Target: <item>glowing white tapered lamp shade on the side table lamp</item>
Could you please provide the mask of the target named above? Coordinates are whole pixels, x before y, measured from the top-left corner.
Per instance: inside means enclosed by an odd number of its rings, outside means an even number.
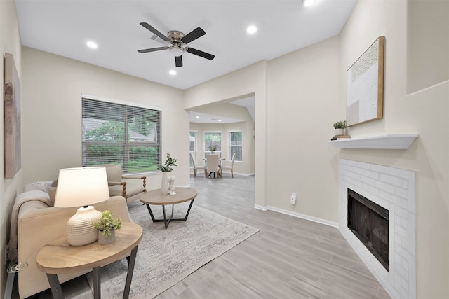
[[[105,167],[60,169],[55,207],[83,207],[108,198]]]

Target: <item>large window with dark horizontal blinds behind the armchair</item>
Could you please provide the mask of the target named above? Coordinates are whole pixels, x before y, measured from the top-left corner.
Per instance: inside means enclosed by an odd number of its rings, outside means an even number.
[[[161,165],[161,111],[82,99],[83,166],[118,163],[123,173]]]

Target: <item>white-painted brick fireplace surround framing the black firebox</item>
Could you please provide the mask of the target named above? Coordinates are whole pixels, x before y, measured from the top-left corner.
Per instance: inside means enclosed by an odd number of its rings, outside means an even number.
[[[389,270],[347,228],[347,189],[389,210]],[[415,172],[340,159],[339,230],[392,298],[416,298]]]

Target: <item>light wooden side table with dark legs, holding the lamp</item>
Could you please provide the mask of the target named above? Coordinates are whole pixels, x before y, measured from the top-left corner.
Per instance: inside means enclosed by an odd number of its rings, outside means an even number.
[[[142,228],[132,222],[123,222],[116,230],[116,240],[110,244],[100,245],[93,242],[84,246],[70,246],[67,237],[60,237],[47,244],[36,256],[36,267],[47,274],[53,298],[64,298],[58,274],[93,271],[93,297],[100,299],[100,267],[119,260],[131,251],[128,259],[123,298],[128,298],[135,265],[138,244],[142,239]]]

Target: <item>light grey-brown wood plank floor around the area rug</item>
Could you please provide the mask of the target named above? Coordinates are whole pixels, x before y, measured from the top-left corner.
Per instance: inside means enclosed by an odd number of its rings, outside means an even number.
[[[254,209],[254,180],[227,173],[218,181],[191,177],[194,205],[260,231],[157,299],[390,298],[337,228]],[[63,284],[66,298],[92,298],[87,288],[85,277]]]

